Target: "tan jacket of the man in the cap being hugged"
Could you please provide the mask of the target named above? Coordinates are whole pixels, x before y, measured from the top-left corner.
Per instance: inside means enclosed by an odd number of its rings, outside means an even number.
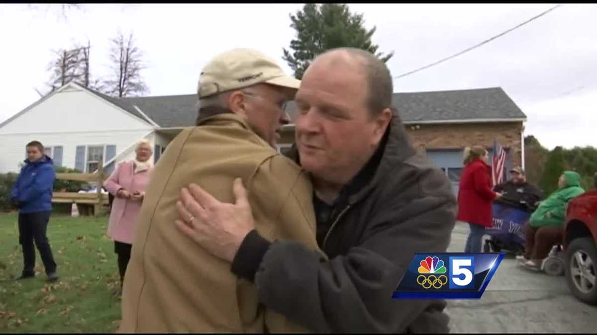
[[[119,332],[306,331],[260,305],[253,283],[174,225],[182,187],[195,182],[232,203],[236,177],[247,188],[261,236],[292,238],[318,250],[305,172],[235,114],[210,117],[181,132],[155,167],[124,280]]]

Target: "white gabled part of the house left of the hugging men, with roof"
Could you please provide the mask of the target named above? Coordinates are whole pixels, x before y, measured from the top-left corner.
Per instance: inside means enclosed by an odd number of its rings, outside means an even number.
[[[142,138],[152,143],[157,161],[184,127],[194,125],[196,100],[195,94],[112,98],[68,83],[0,124],[0,173],[18,172],[24,146],[33,140],[44,144],[55,165],[84,172],[100,163],[111,172],[134,157]]]

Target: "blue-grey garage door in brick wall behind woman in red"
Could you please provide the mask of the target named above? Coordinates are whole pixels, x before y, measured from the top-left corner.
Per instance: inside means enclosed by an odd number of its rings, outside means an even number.
[[[491,157],[493,157],[493,150],[489,151],[489,157],[491,162]],[[450,179],[452,183],[452,189],[454,190],[454,195],[458,195],[458,182],[460,182],[460,174],[463,170],[463,157],[462,157],[463,150],[427,150],[427,156],[429,159],[435,163],[438,168],[442,169],[444,173]],[[504,173],[512,168],[512,160],[510,159],[510,155],[508,154],[508,150],[506,149],[506,164],[504,166]],[[504,174],[507,179],[507,175]]]

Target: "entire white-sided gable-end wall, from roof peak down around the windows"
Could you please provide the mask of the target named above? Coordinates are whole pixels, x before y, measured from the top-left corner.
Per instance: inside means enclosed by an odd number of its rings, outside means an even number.
[[[67,85],[0,127],[0,173],[17,172],[25,144],[62,145],[62,165],[75,168],[77,145],[116,145],[116,154],[153,131],[153,126],[99,96]]]

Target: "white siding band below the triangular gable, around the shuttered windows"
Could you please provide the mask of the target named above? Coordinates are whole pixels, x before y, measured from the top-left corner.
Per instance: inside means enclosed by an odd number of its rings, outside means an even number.
[[[18,119],[17,119],[18,120]],[[15,121],[17,121],[15,120]],[[103,131],[103,132],[30,132],[29,134],[0,134],[2,155],[0,155],[0,173],[18,172],[19,163],[25,159],[25,144],[34,139],[44,145],[63,146],[62,165],[75,168],[77,145],[116,145],[116,154],[122,153],[134,145],[150,130]],[[133,150],[134,157],[134,150]],[[131,157],[132,158],[132,157]],[[120,159],[118,160],[120,161]]]

